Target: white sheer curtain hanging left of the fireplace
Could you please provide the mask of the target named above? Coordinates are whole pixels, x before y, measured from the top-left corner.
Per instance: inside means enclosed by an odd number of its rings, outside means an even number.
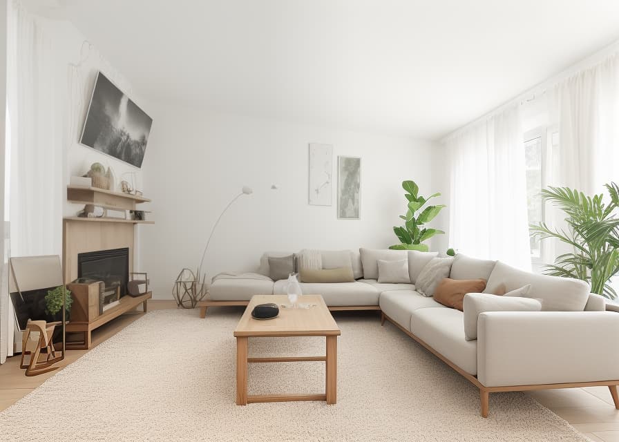
[[[12,256],[59,255],[62,251],[66,66],[63,71],[54,59],[54,41],[45,20],[30,14],[21,3],[10,2],[7,181]],[[12,334],[12,305],[7,310],[10,313],[7,316],[3,310],[0,325],[7,348],[3,347],[0,360],[12,354],[13,339],[18,337]]]

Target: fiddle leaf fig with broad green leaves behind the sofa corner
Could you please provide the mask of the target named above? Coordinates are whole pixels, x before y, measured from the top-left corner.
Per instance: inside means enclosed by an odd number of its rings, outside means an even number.
[[[445,205],[426,206],[426,203],[431,198],[441,194],[434,193],[428,197],[421,196],[419,195],[419,186],[412,180],[403,181],[402,189],[406,191],[404,197],[408,200],[408,210],[406,215],[400,215],[400,218],[404,220],[404,225],[393,228],[395,236],[400,240],[400,244],[394,244],[389,248],[394,250],[428,251],[428,244],[423,244],[423,241],[445,232],[439,229],[426,228],[424,224],[436,218]]]

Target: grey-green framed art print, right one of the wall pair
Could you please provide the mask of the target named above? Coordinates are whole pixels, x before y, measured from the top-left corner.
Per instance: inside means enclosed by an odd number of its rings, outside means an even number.
[[[361,158],[337,157],[337,218],[359,220],[361,215]]]

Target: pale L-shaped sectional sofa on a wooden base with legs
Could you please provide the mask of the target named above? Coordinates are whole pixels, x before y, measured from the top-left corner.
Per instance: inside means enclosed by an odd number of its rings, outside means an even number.
[[[604,298],[590,294],[587,283],[458,255],[451,265],[450,278],[484,279],[484,292],[488,294],[499,285],[506,291],[531,285],[527,298],[539,300],[542,310],[485,311],[474,318],[477,339],[466,340],[462,311],[415,291],[419,268],[415,269],[413,261],[418,255],[391,250],[360,252],[350,251],[358,278],[355,282],[302,282],[303,293],[321,294],[332,310],[380,310],[381,323],[389,320],[479,388],[482,416],[488,415],[491,392],[588,385],[607,385],[619,409],[619,352],[607,345],[619,340],[619,314],[607,311]],[[285,294],[285,280],[272,281],[264,276],[269,274],[265,267],[268,256],[287,254],[265,253],[257,273],[213,282],[209,300],[201,304],[201,316],[207,307],[247,305],[256,294]],[[377,281],[376,260],[407,256],[412,283]],[[263,276],[254,279],[251,275]]]

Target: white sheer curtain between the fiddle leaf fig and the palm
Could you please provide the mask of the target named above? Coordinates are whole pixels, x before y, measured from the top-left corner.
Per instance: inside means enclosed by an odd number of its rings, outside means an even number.
[[[446,140],[450,246],[531,269],[520,105]]]

